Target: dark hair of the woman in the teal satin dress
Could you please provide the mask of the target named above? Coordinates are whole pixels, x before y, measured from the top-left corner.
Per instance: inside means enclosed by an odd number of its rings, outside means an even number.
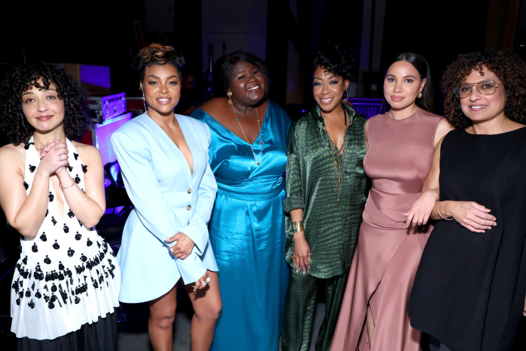
[[[248,62],[258,67],[259,72],[265,76],[265,94],[261,99],[264,102],[267,99],[268,92],[270,89],[270,79],[268,68],[259,57],[246,53],[244,51],[236,51],[231,54],[219,57],[214,64],[212,70],[213,83],[214,83],[214,97],[225,97],[227,96],[228,89],[230,88],[230,77],[232,75],[232,68],[238,62]]]

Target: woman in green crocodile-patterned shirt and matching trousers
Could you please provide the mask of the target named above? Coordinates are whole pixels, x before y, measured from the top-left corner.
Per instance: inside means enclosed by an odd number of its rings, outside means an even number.
[[[366,117],[343,97],[353,60],[341,46],[326,45],[312,64],[316,105],[292,124],[287,142],[285,259],[292,272],[283,350],[309,348],[318,278],[325,279],[327,299],[316,349],[329,348],[366,200]]]

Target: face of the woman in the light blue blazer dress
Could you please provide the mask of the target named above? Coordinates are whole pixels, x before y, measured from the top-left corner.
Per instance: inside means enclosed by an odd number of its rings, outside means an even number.
[[[151,113],[162,116],[174,114],[181,93],[177,68],[171,64],[148,66],[144,70],[141,86],[150,117]]]

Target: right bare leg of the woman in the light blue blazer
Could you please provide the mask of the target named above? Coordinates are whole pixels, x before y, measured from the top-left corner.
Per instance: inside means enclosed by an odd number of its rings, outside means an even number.
[[[194,306],[194,317],[192,318],[190,328],[190,339],[192,342],[192,351],[208,351],[216,320],[221,312],[221,296],[219,294],[219,282],[217,272],[207,271],[210,282],[206,288],[194,292],[191,285],[185,286],[188,296]]]

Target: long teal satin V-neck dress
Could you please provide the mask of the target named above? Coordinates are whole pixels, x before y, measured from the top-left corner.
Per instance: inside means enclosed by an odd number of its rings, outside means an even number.
[[[218,186],[208,227],[223,307],[211,350],[277,350],[289,276],[282,200],[290,119],[269,101],[258,166],[250,145],[214,117],[201,109],[191,116],[210,127]],[[252,147],[259,161],[259,137]]]

